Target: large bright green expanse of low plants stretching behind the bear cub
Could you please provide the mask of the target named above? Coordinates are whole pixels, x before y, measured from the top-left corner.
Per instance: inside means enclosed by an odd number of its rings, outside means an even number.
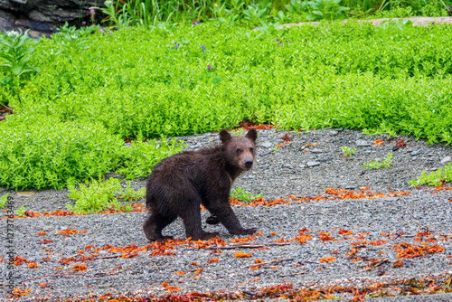
[[[131,138],[185,136],[250,119],[452,142],[447,25],[135,28],[82,37],[83,52],[61,45],[61,37],[39,43],[42,72],[24,83],[21,103],[13,99],[21,113],[100,123]]]

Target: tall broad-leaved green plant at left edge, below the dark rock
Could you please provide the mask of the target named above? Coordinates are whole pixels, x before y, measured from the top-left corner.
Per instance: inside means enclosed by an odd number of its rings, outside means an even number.
[[[35,43],[28,37],[28,31],[0,33],[0,58],[3,59],[3,66],[11,73],[4,79],[4,82],[12,80],[13,77],[20,77],[25,72],[40,71],[38,67],[31,66],[30,60],[35,48]]]

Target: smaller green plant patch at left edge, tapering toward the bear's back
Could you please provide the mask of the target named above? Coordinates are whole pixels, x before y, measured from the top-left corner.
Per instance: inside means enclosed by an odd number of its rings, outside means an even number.
[[[97,124],[54,116],[11,116],[0,124],[0,185],[58,188],[118,169],[127,178],[149,175],[180,144],[124,140]]]

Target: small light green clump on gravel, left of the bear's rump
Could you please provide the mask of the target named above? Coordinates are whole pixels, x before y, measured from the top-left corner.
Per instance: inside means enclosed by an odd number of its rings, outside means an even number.
[[[91,183],[80,184],[76,189],[74,184],[70,184],[68,197],[75,200],[75,204],[66,204],[66,207],[73,212],[101,212],[108,208],[120,209],[121,204],[116,198],[121,185],[118,179],[110,178],[107,181],[93,180]]]

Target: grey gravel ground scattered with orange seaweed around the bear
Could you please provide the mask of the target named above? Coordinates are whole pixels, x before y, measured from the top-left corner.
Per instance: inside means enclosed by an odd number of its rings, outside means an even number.
[[[58,260],[69,257],[72,257],[69,258],[72,260],[78,259],[78,250],[85,250],[88,245],[92,245],[93,249],[105,245],[126,247],[135,244],[137,247],[145,247],[149,242],[146,241],[141,226],[146,219],[146,212],[10,220],[10,223],[14,223],[14,253],[26,260],[35,261],[40,266],[35,269],[29,269],[28,264],[14,267],[15,287],[32,289],[31,293],[20,300],[86,298],[89,294],[94,295],[92,298],[97,298],[108,292],[115,295],[118,295],[118,292],[128,292],[128,297],[139,293],[160,297],[171,289],[178,290],[175,294],[193,291],[245,291],[253,297],[253,293],[260,288],[285,283],[293,284],[293,288],[327,288],[333,285],[363,288],[364,285],[376,282],[410,278],[438,278],[438,285],[452,277],[452,259],[447,257],[452,255],[452,241],[445,241],[447,236],[452,239],[452,191],[432,193],[432,190],[414,189],[408,184],[409,180],[415,179],[422,171],[433,171],[447,165],[452,156],[450,146],[428,146],[425,141],[415,141],[413,137],[390,140],[385,135],[366,136],[355,130],[324,129],[308,133],[290,132],[288,137],[293,136],[291,144],[276,147],[285,142],[281,137],[286,134],[287,131],[275,129],[259,130],[256,165],[250,173],[239,177],[235,187],[250,193],[262,193],[266,199],[287,199],[289,194],[322,194],[331,197],[333,195],[325,193],[325,189],[330,187],[355,190],[368,186],[373,192],[381,193],[389,193],[391,187],[391,192],[405,190],[410,194],[375,199],[233,207],[242,224],[259,228],[260,235],[256,236],[255,241],[250,241],[251,243],[274,244],[274,241],[283,239],[288,241],[287,245],[268,245],[259,250],[234,248],[212,254],[212,250],[196,250],[185,244],[169,250],[175,251],[174,256],[152,256],[155,249],[149,249],[139,250],[137,257],[128,259],[111,258],[121,256],[124,251],[99,250],[98,255],[95,255],[97,260],[75,261],[69,264],[61,264]],[[219,141],[217,134],[179,138],[186,142],[188,149],[210,146]],[[404,139],[407,146],[393,151],[399,138]],[[377,139],[384,141],[381,146],[372,144]],[[357,152],[354,156],[344,157],[342,146],[356,148]],[[363,163],[377,158],[383,160],[389,153],[393,154],[389,169],[363,168]],[[126,184],[127,182],[123,182],[123,185]],[[145,180],[134,180],[131,185],[140,189],[145,185]],[[33,212],[64,209],[66,203],[71,203],[67,198],[67,190],[6,192],[14,198],[14,208],[24,205],[25,210]],[[0,195],[4,193],[5,189],[0,189]],[[139,202],[144,203],[144,200]],[[202,219],[207,215],[207,212],[202,212]],[[6,220],[0,221],[2,234],[6,231],[6,224]],[[56,232],[68,227],[86,232],[68,236]],[[289,241],[296,238],[298,231],[303,228],[308,230],[305,232],[312,240],[303,244]],[[204,229],[219,231],[221,238],[228,242],[236,238],[228,234],[221,225],[205,224]],[[339,234],[340,229],[352,231],[353,234]],[[415,241],[415,236],[419,231],[426,230],[432,234],[430,237],[420,238],[421,241],[429,239],[428,246],[438,244],[444,250],[428,253],[423,257],[403,259],[400,268],[391,268],[398,253],[394,250],[394,245],[400,244],[401,241],[419,245],[420,242]],[[38,236],[38,231],[45,231],[46,234]],[[334,240],[321,240],[320,231],[331,232],[329,236],[334,237]],[[363,234],[359,236],[359,233]],[[164,234],[184,239],[182,222],[177,220],[165,229]],[[345,240],[344,237],[354,240]],[[376,246],[363,243],[378,240],[381,240],[381,243],[386,242]],[[0,243],[0,256],[5,256],[6,243],[5,240]],[[351,255],[353,248],[356,253]],[[83,255],[94,254],[86,251]],[[235,258],[234,253],[237,251],[250,252],[251,257]],[[334,257],[336,260],[321,263],[324,257]],[[212,258],[220,261],[209,263],[208,260]],[[49,261],[44,261],[47,259]],[[282,259],[284,261],[268,263],[259,269],[247,268],[255,260],[271,262]],[[10,271],[5,262],[6,256],[0,263],[0,282],[3,290],[0,292],[1,297],[7,294],[6,274]],[[83,263],[87,265],[87,270],[73,274],[72,267]],[[380,264],[376,265],[378,263]],[[199,272],[199,269],[202,269],[202,272]],[[184,274],[176,274],[176,271],[182,271]],[[61,276],[64,274],[72,275]],[[43,277],[45,275],[52,276]],[[165,281],[169,288],[162,287]],[[394,290],[392,294],[400,293],[400,288]],[[353,298],[350,294],[338,293],[334,296]],[[452,300],[452,293],[403,299],[375,299],[380,300],[449,301]]]

